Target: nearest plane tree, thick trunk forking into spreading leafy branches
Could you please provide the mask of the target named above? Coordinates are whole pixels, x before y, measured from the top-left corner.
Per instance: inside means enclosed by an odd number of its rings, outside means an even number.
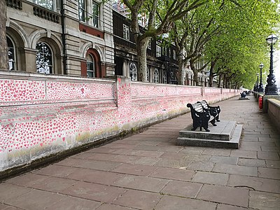
[[[174,22],[186,13],[207,3],[207,0],[123,0],[130,9],[131,29],[137,45],[139,80],[147,81],[146,50],[151,38],[168,33]],[[148,19],[146,30],[141,33],[139,14]]]

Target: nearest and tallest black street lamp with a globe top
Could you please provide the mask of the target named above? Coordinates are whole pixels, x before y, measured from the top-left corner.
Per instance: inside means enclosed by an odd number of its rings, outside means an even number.
[[[266,95],[277,95],[277,85],[275,85],[276,79],[273,73],[273,45],[278,40],[277,36],[274,34],[269,35],[266,39],[267,43],[270,45],[270,66],[269,75],[267,76],[267,85],[265,86]]]

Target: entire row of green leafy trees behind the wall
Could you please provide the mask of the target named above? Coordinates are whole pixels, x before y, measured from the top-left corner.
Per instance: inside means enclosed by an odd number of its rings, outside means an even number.
[[[169,34],[176,45],[179,83],[183,83],[184,64],[204,59],[211,78],[223,78],[223,86],[251,88],[258,65],[269,66],[269,48],[265,38],[277,34],[279,0],[123,0],[130,8],[132,33],[137,41],[139,80],[146,81],[146,48],[152,37]],[[148,18],[146,31],[139,31],[139,14]],[[186,52],[186,57],[182,57]],[[206,65],[205,65],[206,66]],[[205,67],[203,66],[203,67]],[[267,71],[267,69],[264,69]],[[265,74],[265,73],[264,73]]]

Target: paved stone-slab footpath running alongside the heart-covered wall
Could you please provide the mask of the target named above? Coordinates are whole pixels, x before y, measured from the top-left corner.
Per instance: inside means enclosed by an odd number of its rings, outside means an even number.
[[[1,182],[0,209],[279,210],[279,132],[253,97],[218,105],[239,150],[176,146],[187,113]]]

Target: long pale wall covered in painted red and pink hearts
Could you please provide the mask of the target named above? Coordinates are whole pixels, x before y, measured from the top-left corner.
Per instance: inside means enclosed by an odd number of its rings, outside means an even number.
[[[235,90],[0,72],[0,172],[218,102]]]

